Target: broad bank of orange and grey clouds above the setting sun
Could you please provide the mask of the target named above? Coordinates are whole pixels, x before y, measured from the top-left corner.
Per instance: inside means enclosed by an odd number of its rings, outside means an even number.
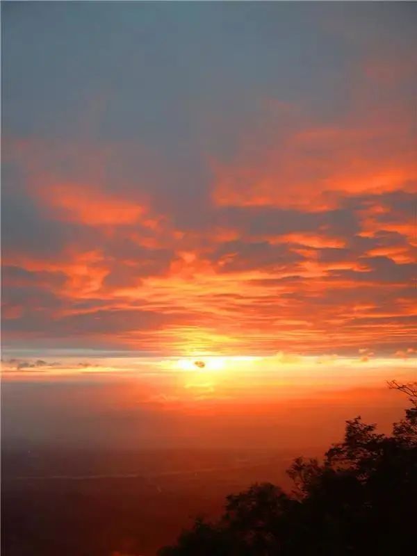
[[[81,330],[165,354],[406,350],[417,165],[403,118],[360,115],[301,125],[290,111],[286,131],[273,121],[215,161],[212,190],[191,200],[166,186],[163,160],[149,191],[132,169],[114,183],[125,145],[54,145],[49,167],[47,145],[19,143],[17,193],[42,241],[4,256],[6,334],[70,343]]]

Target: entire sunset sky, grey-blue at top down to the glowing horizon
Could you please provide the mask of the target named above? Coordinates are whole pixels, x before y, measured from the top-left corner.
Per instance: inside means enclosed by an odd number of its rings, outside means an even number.
[[[183,408],[413,376],[416,3],[1,12],[6,374]]]

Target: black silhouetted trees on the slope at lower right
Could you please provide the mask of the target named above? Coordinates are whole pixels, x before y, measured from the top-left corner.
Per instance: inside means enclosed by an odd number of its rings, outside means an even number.
[[[227,496],[215,522],[197,518],[159,556],[409,555],[417,549],[417,384],[391,436],[358,417],[322,462],[296,459],[294,490],[254,484]]]

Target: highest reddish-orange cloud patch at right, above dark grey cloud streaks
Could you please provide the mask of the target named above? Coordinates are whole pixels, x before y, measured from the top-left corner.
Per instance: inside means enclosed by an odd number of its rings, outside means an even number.
[[[234,158],[213,161],[213,201],[318,211],[338,206],[341,195],[413,190],[417,163],[409,115],[391,119],[378,107],[358,120],[359,113],[354,121],[327,126],[295,120],[286,131],[278,122],[272,139],[269,130],[265,137],[248,133]]]

